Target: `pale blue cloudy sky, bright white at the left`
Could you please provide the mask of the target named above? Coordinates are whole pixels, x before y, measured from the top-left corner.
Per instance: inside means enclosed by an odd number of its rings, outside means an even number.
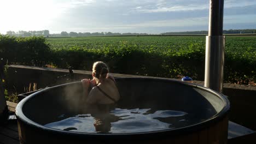
[[[1,0],[7,31],[207,31],[210,0]],[[225,0],[223,29],[256,29],[256,0]]]

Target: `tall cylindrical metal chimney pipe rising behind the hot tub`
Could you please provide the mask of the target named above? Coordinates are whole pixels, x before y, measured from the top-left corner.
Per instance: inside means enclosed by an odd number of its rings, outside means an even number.
[[[205,87],[222,92],[224,47],[224,0],[210,0],[209,32],[206,36]]]

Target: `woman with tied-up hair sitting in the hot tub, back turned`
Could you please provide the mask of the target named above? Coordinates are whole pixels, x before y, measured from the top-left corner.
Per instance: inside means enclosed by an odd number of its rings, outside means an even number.
[[[95,62],[92,67],[92,77],[92,80],[82,80],[86,107],[90,113],[109,112],[120,99],[120,95],[114,77],[109,75],[107,64]]]

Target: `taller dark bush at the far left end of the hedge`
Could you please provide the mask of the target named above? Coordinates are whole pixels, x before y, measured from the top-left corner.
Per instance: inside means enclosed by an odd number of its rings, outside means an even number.
[[[0,58],[8,64],[44,66],[50,62],[50,46],[43,37],[16,38],[0,35]]]

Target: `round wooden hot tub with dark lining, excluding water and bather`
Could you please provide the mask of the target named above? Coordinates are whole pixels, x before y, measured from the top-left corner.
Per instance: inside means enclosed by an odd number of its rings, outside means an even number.
[[[45,127],[63,113],[83,113],[81,82],[43,89],[16,107],[21,143],[226,143],[228,99],[211,89],[175,80],[117,78],[123,109],[176,110],[199,119],[183,127],[138,133],[82,133]],[[192,120],[191,120],[192,121]],[[194,120],[193,120],[194,121]]]

